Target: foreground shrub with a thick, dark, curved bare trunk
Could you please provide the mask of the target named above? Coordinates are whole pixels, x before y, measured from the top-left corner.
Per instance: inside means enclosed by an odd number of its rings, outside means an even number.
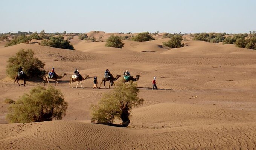
[[[142,105],[144,101],[138,97],[138,93],[139,89],[135,82],[129,84],[119,82],[111,93],[103,94],[98,105],[92,105],[91,122],[113,123],[115,118],[119,118],[123,121],[122,127],[128,126],[129,110]]]

